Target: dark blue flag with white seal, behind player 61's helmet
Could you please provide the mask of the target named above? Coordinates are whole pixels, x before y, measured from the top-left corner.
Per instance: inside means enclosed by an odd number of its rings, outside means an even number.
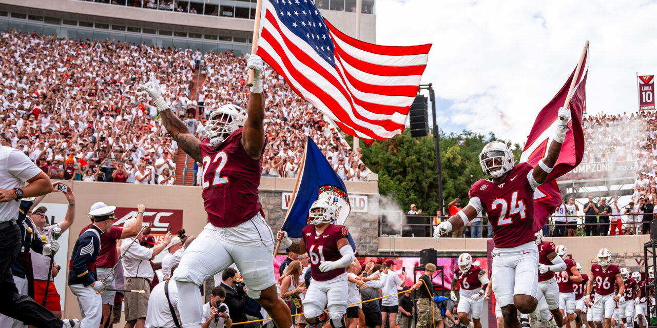
[[[320,197],[329,199],[336,205],[338,208],[336,224],[344,224],[351,211],[347,188],[315,142],[307,137],[304,160],[298,171],[292,200],[282,228],[288,236],[291,238],[302,236],[302,229],[308,224],[308,211],[313,202]]]

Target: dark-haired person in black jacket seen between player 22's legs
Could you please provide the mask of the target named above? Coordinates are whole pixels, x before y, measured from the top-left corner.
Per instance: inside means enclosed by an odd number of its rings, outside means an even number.
[[[224,302],[230,310],[230,317],[233,322],[244,322],[257,320],[258,318],[249,316],[244,313],[246,304],[250,298],[246,295],[246,286],[238,281],[237,271],[233,268],[227,268],[221,273],[221,287],[226,291]],[[246,323],[245,328],[256,328],[260,323]]]

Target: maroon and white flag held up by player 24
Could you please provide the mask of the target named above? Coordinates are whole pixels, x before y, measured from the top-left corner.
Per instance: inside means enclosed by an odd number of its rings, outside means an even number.
[[[586,111],[585,86],[589,71],[588,48],[584,54],[581,70],[579,70],[577,77],[574,77],[575,71],[570,74],[568,81],[556,94],[555,98],[550,100],[543,110],[538,113],[532,132],[530,132],[527,143],[522,150],[522,156],[520,156],[520,162],[526,161],[535,166],[538,161],[547,155],[547,150],[555,135],[557,113],[559,108],[566,102],[570,85],[573,79],[576,78],[576,84],[570,98],[571,121],[568,123],[572,130],[566,134],[566,140],[564,140],[561,147],[561,153],[555,168],[547,176],[545,183],[536,188],[534,192],[534,231],[541,230],[545,226],[548,216],[555,212],[556,207],[561,205],[561,192],[555,179],[578,166],[584,153],[584,133],[581,129],[581,116]]]

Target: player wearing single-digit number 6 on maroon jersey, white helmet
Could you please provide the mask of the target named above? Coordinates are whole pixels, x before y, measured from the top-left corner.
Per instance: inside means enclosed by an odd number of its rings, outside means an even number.
[[[457,260],[459,268],[454,270],[454,277],[452,279],[451,299],[456,302],[457,283],[459,284],[459,306],[457,307],[457,314],[459,321],[462,325],[470,326],[470,319],[474,323],[474,328],[482,328],[480,318],[482,318],[482,308],[484,306],[484,298],[482,296],[486,293],[488,285],[488,276],[486,271],[480,266],[472,265],[472,256],[468,253],[459,255]]]

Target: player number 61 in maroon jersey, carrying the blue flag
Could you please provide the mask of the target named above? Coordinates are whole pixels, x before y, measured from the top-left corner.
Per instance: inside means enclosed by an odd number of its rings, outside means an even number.
[[[311,325],[323,323],[327,316],[333,328],[344,327],[347,312],[347,272],[353,256],[346,226],[332,224],[337,209],[328,199],[317,199],[309,211],[309,222],[300,241],[292,241],[287,233],[279,231],[278,239],[290,251],[310,255],[310,284],[304,298],[304,316]]]

